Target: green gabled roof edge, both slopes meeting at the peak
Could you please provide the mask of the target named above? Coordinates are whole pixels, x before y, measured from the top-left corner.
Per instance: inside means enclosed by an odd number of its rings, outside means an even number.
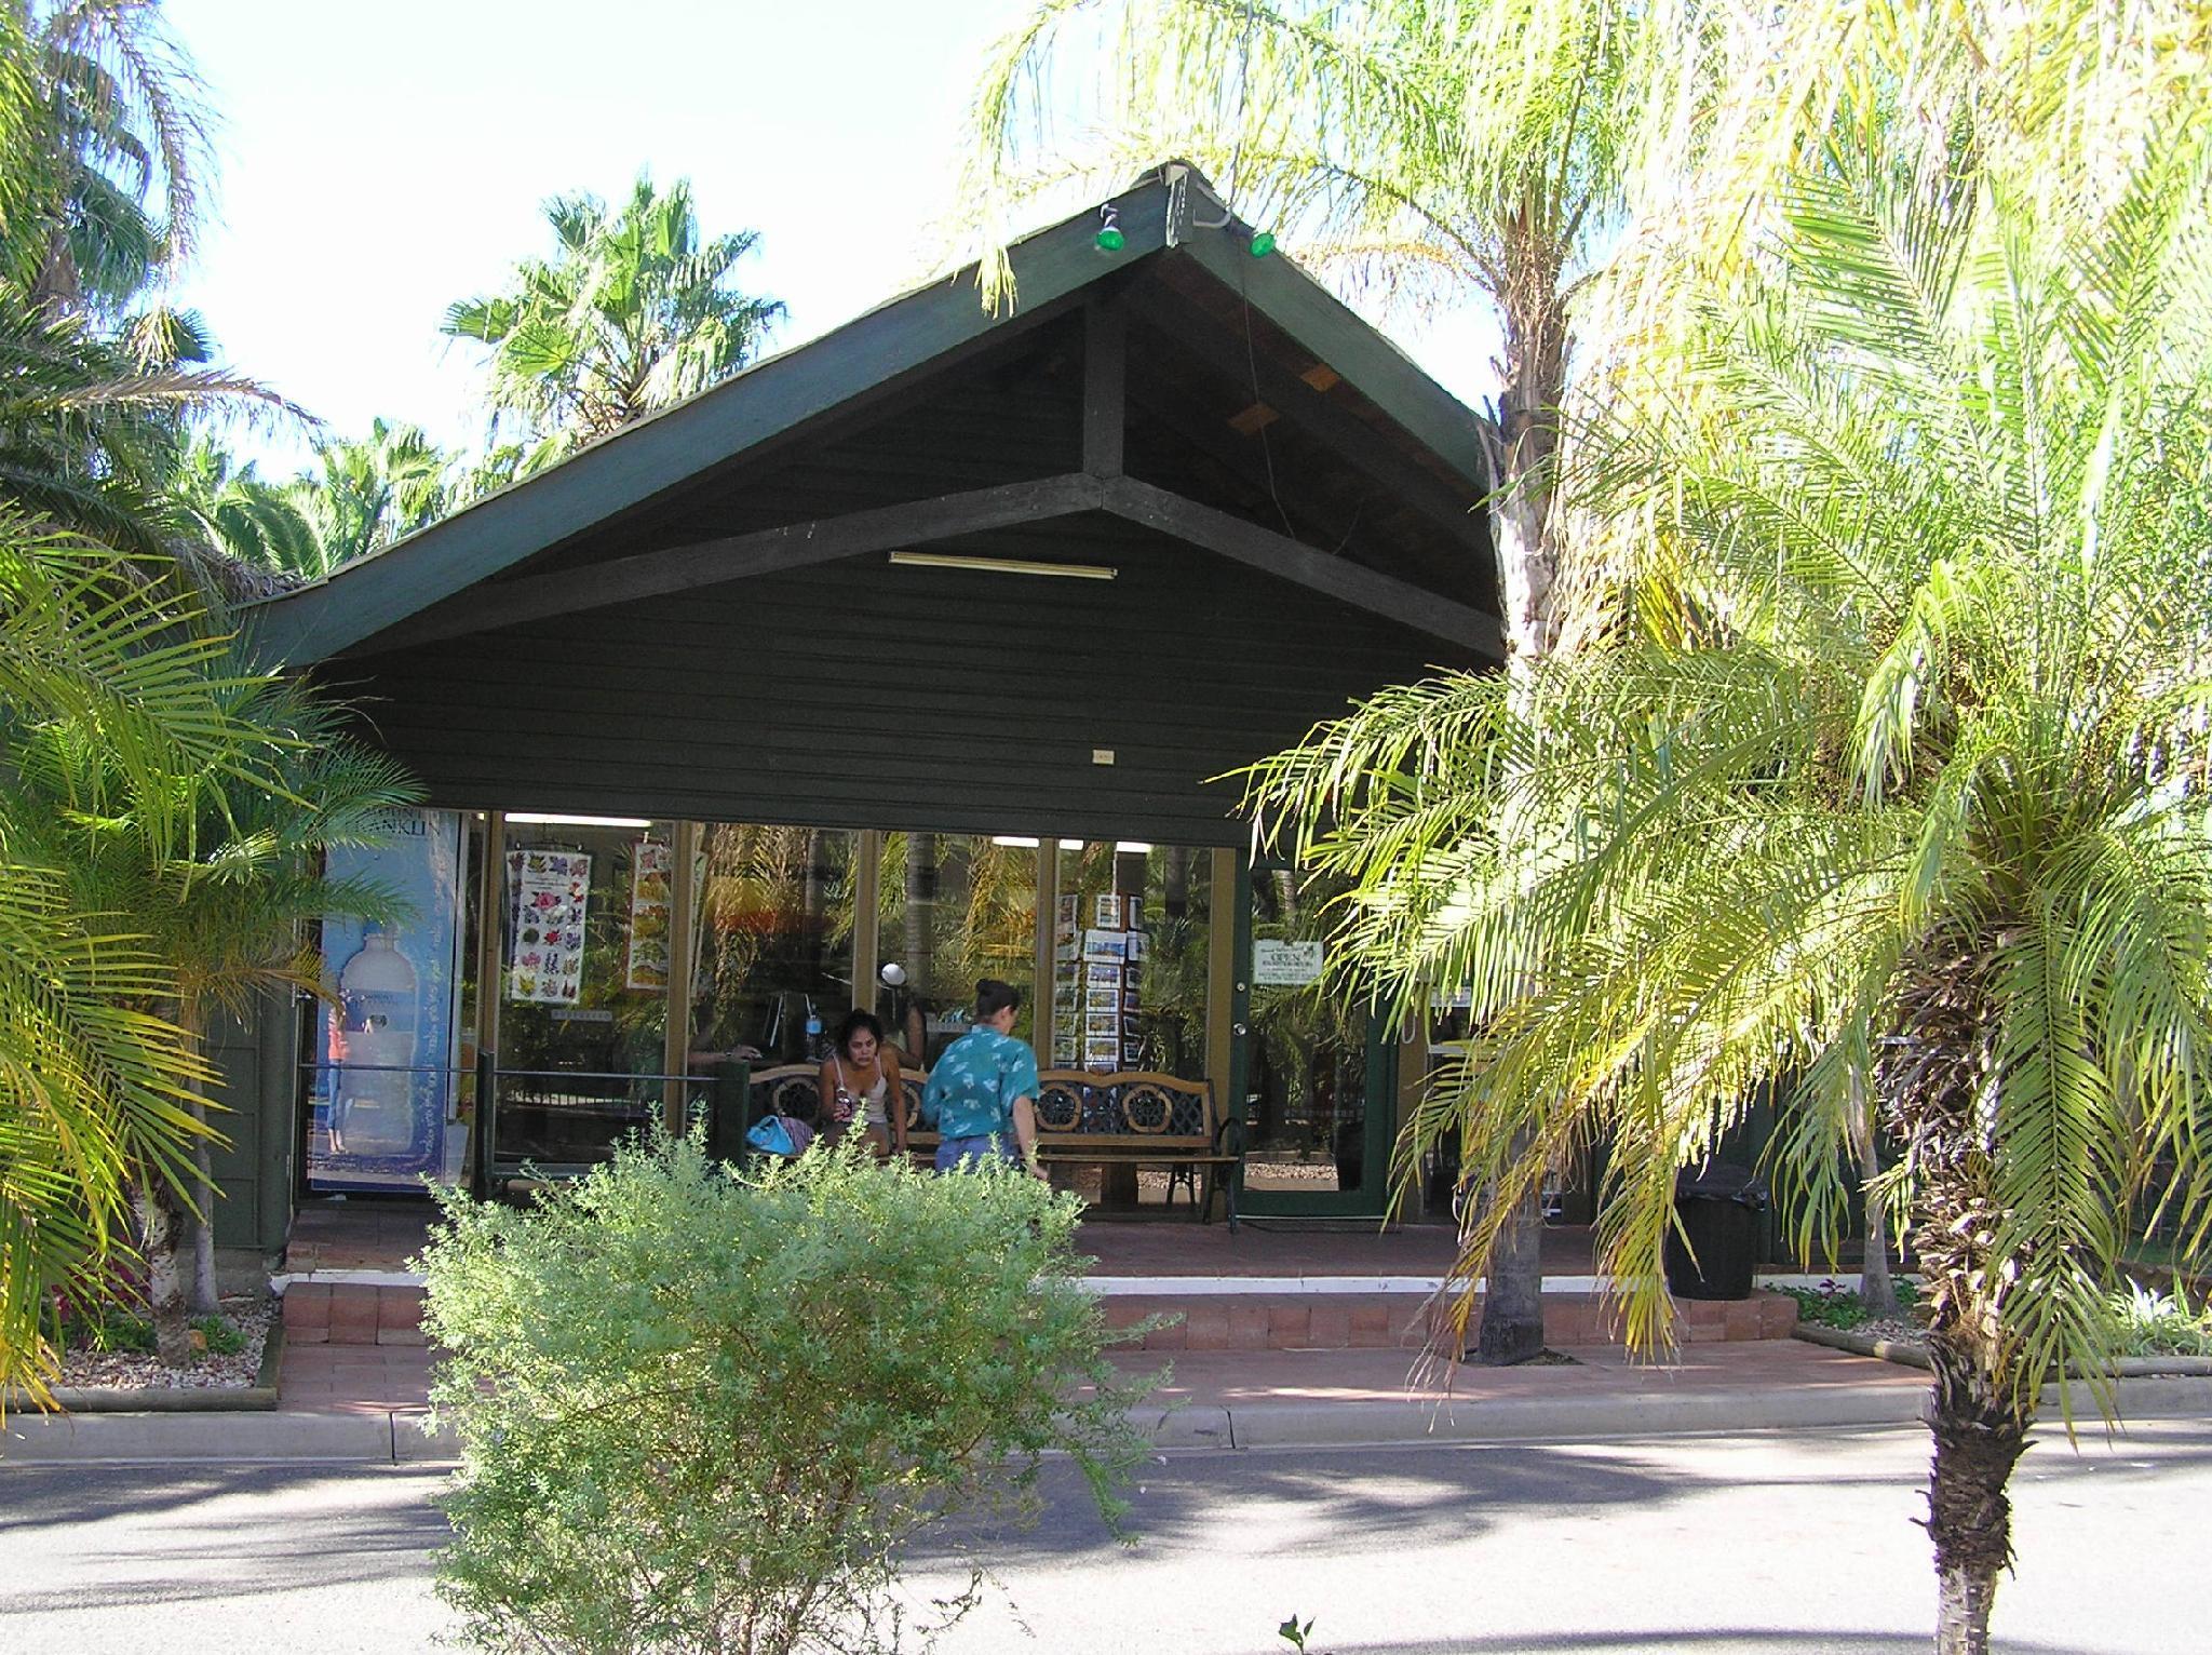
[[[1022,314],[1053,305],[1144,259],[1188,257],[1252,310],[1329,363],[1451,471],[1486,489],[1473,412],[1409,356],[1283,257],[1254,259],[1250,230],[1192,226],[1192,197],[1210,188],[1179,164],[1110,199],[1126,246],[1097,248],[1099,204],[1009,250]],[[588,449],[487,496],[380,553],[296,591],[243,608],[263,664],[307,666],[593,524],[666,493],[686,478],[768,443],[947,352],[1006,327],[978,301],[975,266],[891,299],[821,339],[624,427]]]

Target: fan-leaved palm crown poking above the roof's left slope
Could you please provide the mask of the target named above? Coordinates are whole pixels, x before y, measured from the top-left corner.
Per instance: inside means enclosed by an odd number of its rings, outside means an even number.
[[[524,469],[728,378],[783,316],[730,285],[757,235],[701,241],[686,179],[664,195],[639,175],[619,212],[555,197],[546,221],[553,259],[524,259],[509,292],[445,314],[449,336],[491,345],[493,436],[529,447]]]

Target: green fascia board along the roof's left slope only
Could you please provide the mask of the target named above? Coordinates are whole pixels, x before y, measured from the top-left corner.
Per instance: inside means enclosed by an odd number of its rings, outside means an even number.
[[[1168,246],[1168,190],[1150,179],[1113,197],[1126,246],[1097,246],[1099,210],[1009,250],[1022,312],[1128,270]],[[263,666],[307,666],[637,507],[686,478],[827,414],[1013,316],[984,312],[975,266],[891,299],[834,332],[754,363],[469,509],[243,611]]]

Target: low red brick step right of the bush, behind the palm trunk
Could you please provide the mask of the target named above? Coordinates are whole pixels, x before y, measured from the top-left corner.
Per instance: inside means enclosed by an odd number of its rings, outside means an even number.
[[[1181,1316],[1172,1328],[1148,1332],[1144,1350],[1418,1350],[1429,1343],[1431,1316],[1442,1314],[1418,1292],[1113,1294],[1102,1303],[1108,1328]],[[1681,1314],[1681,1339],[1690,1345],[1787,1339],[1796,1330],[1796,1301],[1781,1292],[1734,1301],[1677,1299],[1674,1310]],[[1544,1343],[1617,1345],[1615,1308],[1590,1292],[1546,1292]]]

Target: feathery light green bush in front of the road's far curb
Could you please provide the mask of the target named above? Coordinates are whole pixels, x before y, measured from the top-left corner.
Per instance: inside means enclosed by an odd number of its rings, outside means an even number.
[[[739,1170],[692,1137],[531,1210],[440,1199],[438,1591],[482,1648],[889,1648],[905,1542],[1026,1505],[1042,1454],[1121,1511],[1141,1389],[1075,1281],[1077,1204],[1035,1179]]]

